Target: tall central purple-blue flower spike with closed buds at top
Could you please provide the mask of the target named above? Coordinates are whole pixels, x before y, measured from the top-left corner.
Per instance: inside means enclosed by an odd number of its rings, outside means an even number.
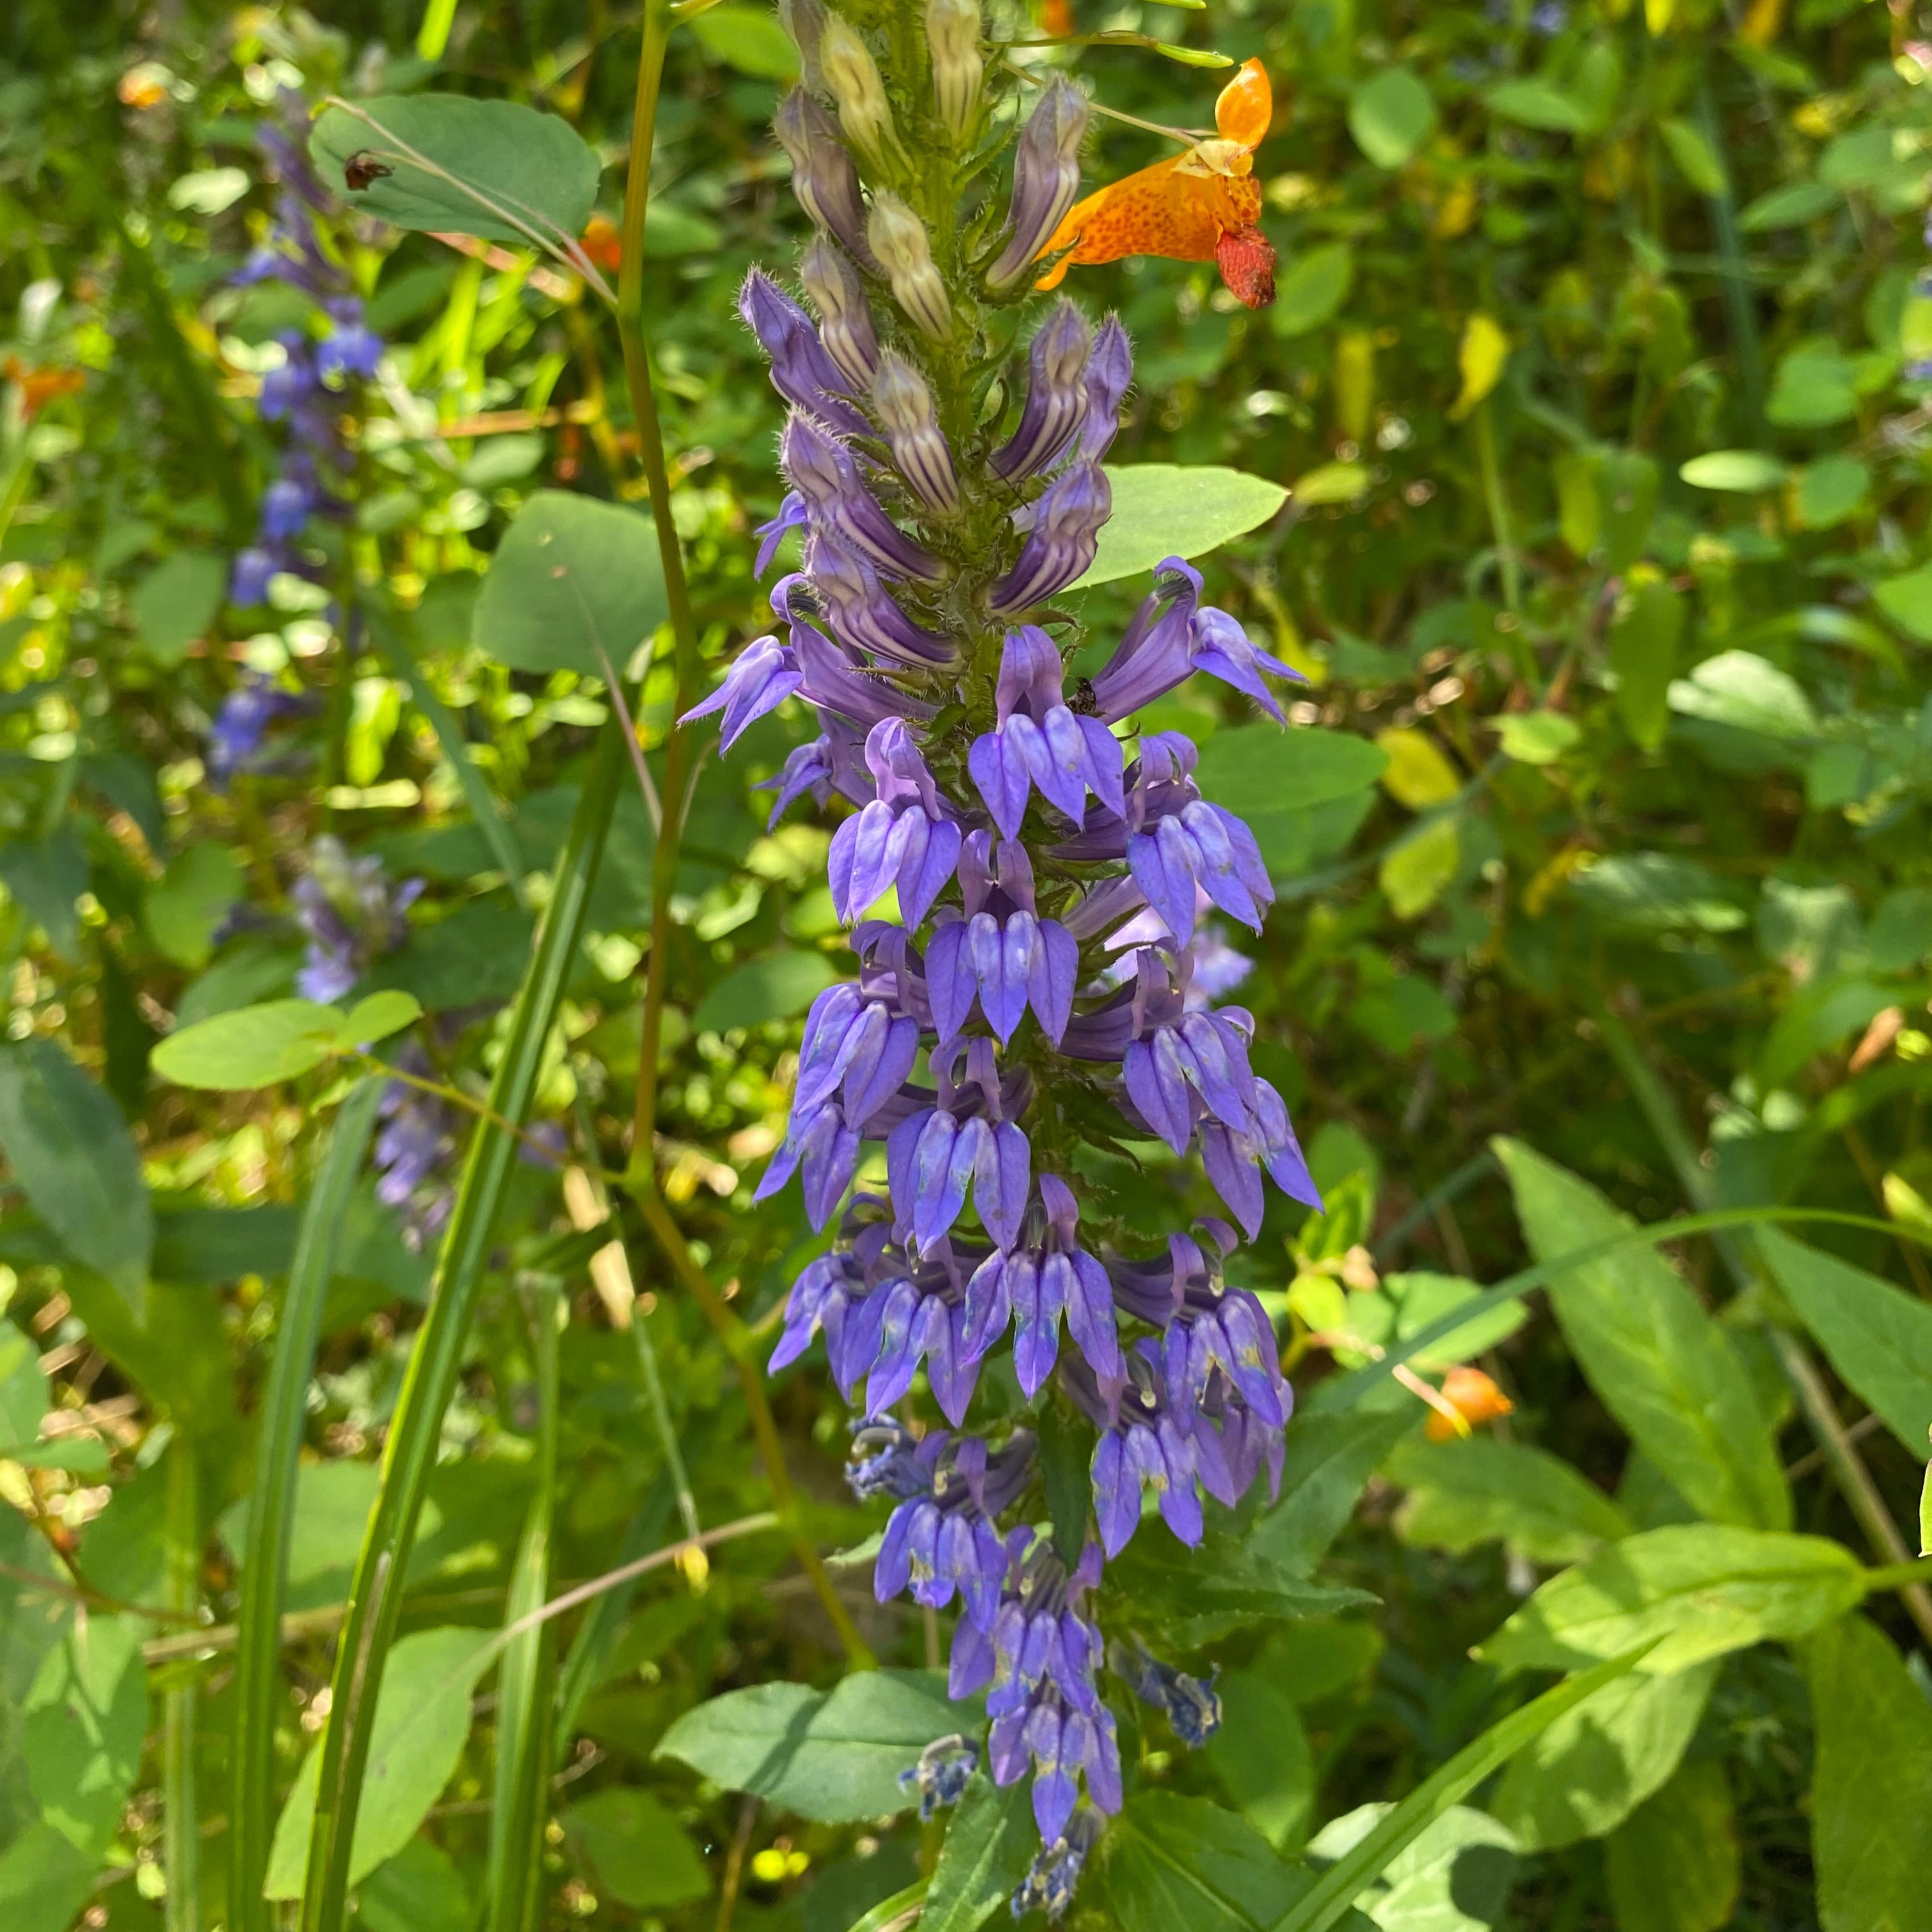
[[[1177,176],[1188,156],[1146,170],[1221,195],[1184,245],[1107,253],[1107,209],[1080,220],[1103,201],[1078,201],[1084,95],[1065,77],[1030,110],[995,93],[976,0],[929,0],[916,70],[817,0],[790,0],[786,21],[804,79],[777,135],[813,224],[800,282],[815,313],[763,272],[742,313],[790,404],[759,568],[790,531],[804,556],[771,593],[784,636],[748,645],[692,713],[723,713],[728,748],[804,701],[819,734],[769,781],[773,823],[808,792],[852,808],[829,873],[860,974],[811,1007],[757,1190],[796,1177],[835,1238],[798,1277],[771,1366],[823,1335],[858,1408],[852,1488],[895,1503],[875,1592],[956,1605],[951,1690],[987,1692],[995,1783],[1034,1777],[1043,1849],[1012,1905],[1057,1917],[1121,1806],[1101,1671],[1182,1743],[1219,1719],[1209,1683],[1138,1640],[1109,1646],[1090,1605],[1150,1499],[1196,1546],[1204,1495],[1235,1505],[1264,1472],[1279,1486],[1291,1391],[1265,1312],[1223,1264],[1262,1229],[1264,1175],[1318,1194],[1250,1066],[1252,1018],[1209,1005],[1246,962],[1206,922],[1258,929],[1267,867],[1202,796],[1194,744],[1132,726],[1194,672],[1279,721],[1267,678],[1293,672],[1171,556],[1105,668],[1068,674],[1080,636],[1051,599],[1094,562],[1132,355],[1117,319],[1095,327],[1066,298],[1037,303],[1024,354],[1010,325],[1068,261],[1121,253],[1233,263],[1258,296],[1246,156],[1267,83],[1250,64],[1223,97],[1244,145],[1200,143],[1194,176]],[[1009,122],[1010,189],[976,201],[962,184],[995,172]],[[1227,1219],[1159,1254],[1117,1248],[1074,1159],[1115,1134],[1198,1148]],[[1034,1428],[968,1428],[1009,1337],[1028,1410],[1059,1405],[1092,1432],[1092,1528],[1039,1522]],[[951,1428],[895,1418],[922,1370]],[[941,1739],[908,1789],[951,1803],[978,1762]]]

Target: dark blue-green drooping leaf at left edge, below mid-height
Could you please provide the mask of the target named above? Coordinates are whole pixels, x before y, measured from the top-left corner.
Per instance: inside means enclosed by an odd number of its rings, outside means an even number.
[[[128,1122],[52,1041],[0,1047],[0,1150],[33,1211],[139,1318],[155,1209]]]

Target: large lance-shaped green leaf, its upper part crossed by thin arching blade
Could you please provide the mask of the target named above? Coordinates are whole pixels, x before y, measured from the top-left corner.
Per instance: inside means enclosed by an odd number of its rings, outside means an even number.
[[[1493,1146],[1538,1262],[1631,1227],[1586,1180],[1522,1142]],[[1549,1304],[1604,1406],[1696,1511],[1712,1522],[1762,1528],[1791,1520],[1791,1495],[1743,1362],[1662,1254],[1633,1248],[1561,1273],[1549,1283]]]

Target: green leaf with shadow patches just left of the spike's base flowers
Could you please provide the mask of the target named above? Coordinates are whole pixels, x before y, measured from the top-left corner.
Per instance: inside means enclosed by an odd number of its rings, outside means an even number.
[[[655,1756],[728,1791],[752,1791],[817,1824],[904,1810],[898,1785],[920,1752],[964,1721],[937,1671],[856,1671],[831,1692],[765,1683],[688,1710]]]

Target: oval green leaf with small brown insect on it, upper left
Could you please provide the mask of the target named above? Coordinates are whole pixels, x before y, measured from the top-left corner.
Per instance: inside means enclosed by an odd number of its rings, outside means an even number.
[[[379,95],[330,106],[309,153],[332,195],[396,228],[566,243],[597,203],[597,156],[570,122],[512,100]],[[352,155],[390,172],[350,187]]]

